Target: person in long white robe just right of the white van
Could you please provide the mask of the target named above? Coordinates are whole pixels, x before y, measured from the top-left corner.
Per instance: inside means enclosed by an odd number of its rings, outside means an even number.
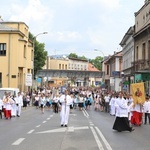
[[[16,106],[17,106],[17,109],[16,109],[16,115],[18,117],[20,117],[21,115],[21,107],[23,106],[23,98],[22,98],[22,95],[20,92],[18,92],[18,96],[16,97]]]

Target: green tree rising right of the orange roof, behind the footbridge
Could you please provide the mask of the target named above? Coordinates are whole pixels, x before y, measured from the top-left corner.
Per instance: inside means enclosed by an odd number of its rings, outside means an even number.
[[[97,56],[95,59],[91,59],[90,63],[92,63],[98,70],[102,70],[102,61],[103,57]]]

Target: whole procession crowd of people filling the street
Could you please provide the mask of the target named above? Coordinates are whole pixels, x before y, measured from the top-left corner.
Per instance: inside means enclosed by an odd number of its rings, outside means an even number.
[[[140,96],[140,93],[136,93]],[[139,94],[139,95],[138,95]],[[52,109],[60,112],[60,125],[68,126],[69,113],[72,109],[90,110],[94,106],[95,111],[106,112],[116,116],[113,129],[121,131],[133,131],[133,126],[150,124],[150,101],[148,95],[144,103],[135,103],[131,94],[125,92],[107,92],[100,87],[43,87],[30,92],[19,92],[17,96],[5,93],[0,100],[0,115],[2,112],[6,119],[21,115],[21,109],[33,105],[41,109]],[[92,107],[93,108],[93,107]],[[144,118],[144,119],[143,119]]]

